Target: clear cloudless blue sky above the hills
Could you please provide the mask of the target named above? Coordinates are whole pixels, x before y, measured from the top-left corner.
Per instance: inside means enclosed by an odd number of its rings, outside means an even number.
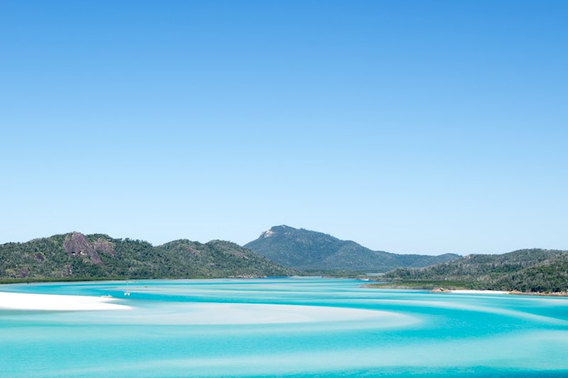
[[[0,243],[568,249],[567,1],[1,1]]]

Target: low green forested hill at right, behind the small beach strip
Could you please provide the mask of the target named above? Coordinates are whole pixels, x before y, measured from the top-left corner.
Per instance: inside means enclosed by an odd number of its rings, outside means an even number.
[[[476,289],[567,291],[568,251],[517,250],[503,255],[467,255],[420,269],[395,269],[394,282],[462,282]]]

